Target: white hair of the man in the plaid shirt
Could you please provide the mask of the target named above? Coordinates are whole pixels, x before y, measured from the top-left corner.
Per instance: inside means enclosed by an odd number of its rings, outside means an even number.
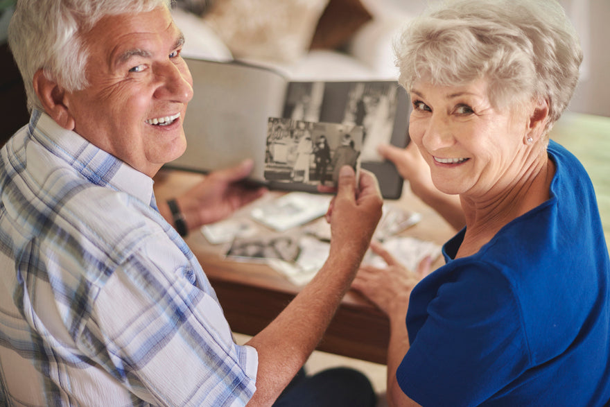
[[[8,45],[26,87],[28,109],[42,110],[33,86],[36,71],[69,92],[87,86],[82,37],[107,15],[170,7],[171,0],[19,0],[8,26]]]

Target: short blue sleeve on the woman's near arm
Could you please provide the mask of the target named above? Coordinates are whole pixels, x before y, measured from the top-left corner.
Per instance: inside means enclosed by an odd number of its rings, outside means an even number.
[[[403,392],[424,406],[478,405],[530,362],[519,302],[500,270],[469,262],[452,276],[422,309],[397,370]],[[419,300],[414,291],[410,307]]]

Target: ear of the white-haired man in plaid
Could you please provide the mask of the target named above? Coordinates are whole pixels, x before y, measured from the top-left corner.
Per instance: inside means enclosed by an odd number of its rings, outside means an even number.
[[[58,125],[67,130],[74,130],[74,118],[65,105],[65,90],[57,83],[46,78],[42,69],[34,73],[34,91],[44,107],[44,112],[51,116]]]

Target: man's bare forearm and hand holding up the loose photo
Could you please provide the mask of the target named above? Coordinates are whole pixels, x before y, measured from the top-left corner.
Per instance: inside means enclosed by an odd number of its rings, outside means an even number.
[[[356,185],[354,170],[342,167],[327,214],[329,259],[286,309],[247,343],[259,353],[256,392],[248,406],[273,404],[319,343],[356,275],[383,205],[374,175],[363,171]]]

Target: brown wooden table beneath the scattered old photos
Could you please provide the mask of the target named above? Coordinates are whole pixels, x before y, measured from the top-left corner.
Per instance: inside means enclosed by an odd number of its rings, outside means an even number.
[[[168,169],[159,171],[155,177],[157,200],[179,194],[201,180],[202,176]],[[266,198],[280,194],[271,191]],[[412,196],[407,187],[403,189],[401,199],[392,202],[398,202],[422,216],[417,225],[405,232],[408,236],[442,244],[454,233],[442,218]],[[241,212],[250,209],[246,207]],[[269,266],[224,259],[226,246],[211,245],[200,232],[191,233],[186,243],[216,290],[229,325],[239,334],[257,334],[301,289]],[[317,349],[385,364],[389,334],[389,321],[385,314],[358,293],[350,291]]]

